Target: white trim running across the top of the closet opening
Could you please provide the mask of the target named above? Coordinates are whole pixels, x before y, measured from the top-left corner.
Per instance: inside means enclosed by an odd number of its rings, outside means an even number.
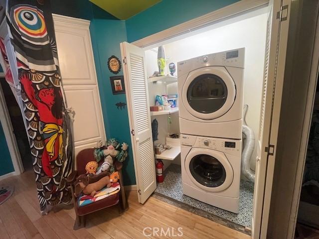
[[[132,42],[132,44],[142,48],[151,46],[160,43],[161,41],[167,40],[169,38],[197,30],[199,28],[211,25],[221,20],[226,20],[227,18],[234,17],[236,15],[253,10],[255,8],[263,7],[267,5],[268,2],[269,0],[240,0],[228,6],[222,7],[218,10],[209,12],[202,16],[196,17],[189,21],[157,32],[153,35],[134,41]]]

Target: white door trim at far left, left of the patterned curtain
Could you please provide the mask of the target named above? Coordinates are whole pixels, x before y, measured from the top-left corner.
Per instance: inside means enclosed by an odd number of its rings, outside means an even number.
[[[4,73],[0,73],[0,77],[4,77]],[[11,161],[14,167],[14,175],[19,175],[24,171],[20,152],[18,149],[18,145],[16,143],[16,138],[13,133],[13,127],[11,124],[10,115],[8,109],[6,107],[6,102],[4,99],[2,87],[0,85],[0,121],[3,128],[6,144],[8,145],[8,149],[11,156]],[[11,174],[5,174],[11,176]],[[13,175],[13,174],[12,174]],[[4,176],[4,175],[3,175]]]

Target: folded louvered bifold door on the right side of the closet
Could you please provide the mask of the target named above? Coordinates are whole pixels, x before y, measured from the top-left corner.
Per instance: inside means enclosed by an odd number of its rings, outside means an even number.
[[[270,0],[268,5],[252,217],[253,239],[264,239],[267,234],[290,13],[290,0],[283,0],[283,3],[281,0]]]

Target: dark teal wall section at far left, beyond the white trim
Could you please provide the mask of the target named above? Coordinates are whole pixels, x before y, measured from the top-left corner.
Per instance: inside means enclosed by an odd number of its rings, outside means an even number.
[[[1,149],[0,176],[2,176],[4,174],[13,172],[14,168],[13,168],[13,164],[11,161],[9,149],[8,149],[7,144],[6,144],[6,140],[5,140],[5,136],[4,136],[4,132],[3,132],[3,128],[2,128],[1,123],[0,123],[0,149]]]

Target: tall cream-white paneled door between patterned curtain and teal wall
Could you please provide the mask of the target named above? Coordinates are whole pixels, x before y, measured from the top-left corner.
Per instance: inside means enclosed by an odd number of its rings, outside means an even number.
[[[67,106],[75,111],[75,155],[105,142],[106,134],[90,37],[90,21],[53,14]]]

